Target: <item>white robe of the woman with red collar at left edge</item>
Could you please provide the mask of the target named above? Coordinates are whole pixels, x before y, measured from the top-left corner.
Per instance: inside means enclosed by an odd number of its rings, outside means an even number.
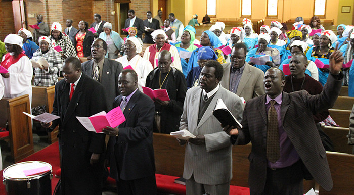
[[[11,54],[10,54],[11,55]],[[3,57],[3,60],[5,56]],[[9,78],[2,77],[4,82],[4,97],[14,98],[24,94],[29,96],[29,104],[32,104],[32,63],[27,56],[22,56],[9,69]]]

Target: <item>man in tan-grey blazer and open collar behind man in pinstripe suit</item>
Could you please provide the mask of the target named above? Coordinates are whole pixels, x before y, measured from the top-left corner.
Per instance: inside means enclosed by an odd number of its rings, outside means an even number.
[[[224,79],[220,83],[239,97],[243,97],[247,102],[253,97],[264,94],[264,73],[245,61],[246,52],[245,44],[234,44],[230,55],[231,62],[223,64]]]

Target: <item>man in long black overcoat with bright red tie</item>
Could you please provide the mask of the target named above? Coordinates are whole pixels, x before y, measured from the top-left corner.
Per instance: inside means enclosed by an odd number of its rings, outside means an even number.
[[[68,57],[64,79],[55,85],[52,114],[60,119],[43,123],[53,130],[59,125],[62,194],[102,194],[105,134],[88,131],[76,116],[90,117],[107,111],[103,86],[82,74],[80,60]]]

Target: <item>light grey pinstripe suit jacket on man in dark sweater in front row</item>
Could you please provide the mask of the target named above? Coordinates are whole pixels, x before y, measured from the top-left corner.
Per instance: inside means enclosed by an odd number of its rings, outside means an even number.
[[[242,119],[243,104],[236,94],[220,86],[209,107],[198,123],[198,111],[202,89],[190,88],[186,93],[180,130],[187,129],[194,135],[204,135],[205,145],[187,143],[183,177],[192,174],[198,183],[217,185],[232,178],[232,146],[230,136],[220,127],[212,115],[217,99],[222,99],[235,118]]]

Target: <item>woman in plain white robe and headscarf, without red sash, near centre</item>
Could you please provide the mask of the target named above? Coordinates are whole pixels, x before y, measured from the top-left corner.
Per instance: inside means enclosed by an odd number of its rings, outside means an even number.
[[[153,70],[150,61],[142,58],[139,53],[142,52],[142,46],[137,37],[129,37],[125,40],[123,50],[126,55],[117,58],[116,61],[123,65],[123,68],[131,66],[138,75],[138,88],[143,92],[146,77]]]

